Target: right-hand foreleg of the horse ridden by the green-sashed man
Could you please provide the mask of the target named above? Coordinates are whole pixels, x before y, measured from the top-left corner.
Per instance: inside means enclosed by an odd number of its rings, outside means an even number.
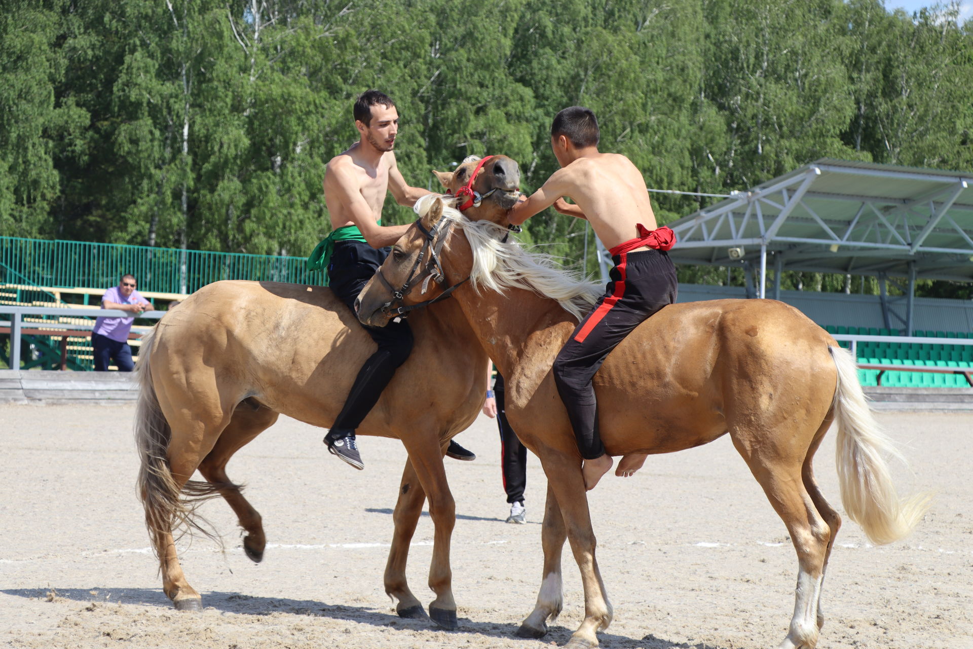
[[[429,588],[436,598],[429,603],[429,617],[440,627],[454,631],[459,625],[456,622],[456,602],[452,598],[450,538],[456,524],[456,503],[452,499],[443,466],[446,446],[440,445],[436,435],[414,435],[402,442],[409,451],[409,460],[419,484],[429,499],[429,516],[435,525]]]

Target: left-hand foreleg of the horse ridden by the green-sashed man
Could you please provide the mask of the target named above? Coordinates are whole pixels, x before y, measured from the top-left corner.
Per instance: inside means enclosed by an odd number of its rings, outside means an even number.
[[[399,499],[392,515],[395,523],[392,547],[388,550],[388,562],[385,564],[385,594],[397,600],[395,610],[403,618],[426,617],[422,603],[413,595],[406,581],[409,543],[413,540],[415,524],[422,514],[424,502],[425,491],[415,475],[412,460],[407,459],[399,486]]]

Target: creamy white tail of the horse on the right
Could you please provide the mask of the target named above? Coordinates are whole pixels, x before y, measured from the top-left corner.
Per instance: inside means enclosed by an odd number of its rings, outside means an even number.
[[[837,464],[842,504],[848,517],[861,525],[876,544],[910,534],[929,506],[931,496],[899,499],[884,455],[905,462],[872,416],[858,382],[855,359],[841,347],[829,346],[838,368],[835,418],[838,422]]]

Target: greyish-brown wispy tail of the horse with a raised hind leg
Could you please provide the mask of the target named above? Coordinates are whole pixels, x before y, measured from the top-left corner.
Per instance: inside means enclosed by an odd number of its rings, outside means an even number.
[[[206,523],[196,510],[202,501],[219,495],[219,489],[236,486],[190,481],[180,488],[173,478],[168,461],[172,429],[159,406],[151,372],[153,343],[158,332],[157,325],[142,338],[138,365],[135,368],[135,378],[138,381],[135,447],[140,464],[137,488],[138,497],[145,507],[145,526],[153,541],[160,533],[172,533],[181,529],[196,530],[221,543],[219,536],[212,531],[212,525]],[[188,497],[184,498],[184,494]],[[153,543],[153,546],[157,552],[160,550],[158,544]]]

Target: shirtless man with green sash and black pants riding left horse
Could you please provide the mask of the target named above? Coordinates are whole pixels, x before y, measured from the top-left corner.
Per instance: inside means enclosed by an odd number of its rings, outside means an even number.
[[[389,246],[409,229],[409,225],[381,225],[385,195],[391,192],[397,203],[412,207],[419,197],[429,194],[407,185],[395,162],[392,149],[399,113],[392,100],[378,90],[363,92],[355,101],[354,118],[359,141],[331,159],[324,176],[332,233],[307,260],[310,270],[327,270],[327,285],[352,311],[358,294],[391,251]],[[413,333],[404,319],[365,330],[378,343],[378,350],[358,372],[342,412],[324,438],[328,451],[356,469],[364,464],[355,429],[413,349]],[[454,442],[447,454],[457,459],[476,457]]]

